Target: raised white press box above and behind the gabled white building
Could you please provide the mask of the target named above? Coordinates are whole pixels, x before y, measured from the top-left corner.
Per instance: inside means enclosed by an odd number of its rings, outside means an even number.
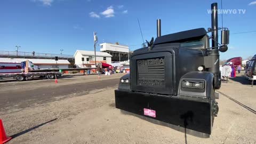
[[[129,53],[129,46],[121,45],[121,44],[112,44],[112,43],[102,43],[100,44],[100,51],[114,51],[114,52],[124,52]]]

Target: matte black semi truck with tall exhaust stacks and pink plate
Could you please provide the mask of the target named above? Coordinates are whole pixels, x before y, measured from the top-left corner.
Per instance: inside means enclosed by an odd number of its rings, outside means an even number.
[[[209,136],[219,109],[215,101],[215,89],[221,86],[219,51],[227,51],[229,43],[229,30],[218,28],[217,7],[211,5],[212,27],[207,31],[198,28],[161,36],[157,20],[155,41],[130,57],[130,74],[121,77],[115,90],[116,108]]]

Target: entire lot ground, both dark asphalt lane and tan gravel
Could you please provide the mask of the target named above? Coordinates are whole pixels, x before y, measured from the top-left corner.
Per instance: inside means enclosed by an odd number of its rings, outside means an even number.
[[[9,143],[256,143],[256,86],[242,75],[222,82],[210,138],[198,138],[115,108],[119,77],[69,76],[0,83]]]

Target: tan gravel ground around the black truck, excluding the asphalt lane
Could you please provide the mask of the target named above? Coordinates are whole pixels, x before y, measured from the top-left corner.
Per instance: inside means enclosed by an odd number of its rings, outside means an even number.
[[[185,143],[182,132],[122,114],[115,108],[116,88],[2,111],[6,132],[15,137],[9,143]],[[256,115],[249,109],[256,109],[256,86],[238,76],[222,83],[219,91],[236,102],[220,94],[211,137],[187,134],[187,143],[256,143]]]

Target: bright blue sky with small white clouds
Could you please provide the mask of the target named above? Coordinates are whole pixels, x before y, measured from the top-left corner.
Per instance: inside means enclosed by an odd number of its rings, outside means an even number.
[[[222,0],[224,27],[230,29],[229,50],[221,59],[246,58],[256,54],[255,0]],[[2,0],[0,2],[0,50],[74,54],[93,50],[93,31],[99,43],[119,42],[140,48],[142,38],[156,37],[156,19],[162,19],[162,35],[194,28],[211,27],[207,12],[211,3],[198,1],[98,1],[98,0]],[[238,10],[245,10],[238,13]],[[219,27],[221,27],[219,14]],[[99,46],[97,47],[99,51]]]

